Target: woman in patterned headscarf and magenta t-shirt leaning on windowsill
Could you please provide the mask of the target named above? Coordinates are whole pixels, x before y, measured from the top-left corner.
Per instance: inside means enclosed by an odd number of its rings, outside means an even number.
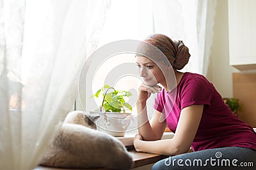
[[[151,46],[164,57],[156,55]],[[170,155],[152,169],[255,169],[256,134],[252,127],[232,113],[204,76],[178,71],[190,57],[182,41],[153,34],[143,41],[138,53],[136,62],[144,83],[136,104],[139,134],[134,147],[138,152]],[[164,58],[168,61],[163,62]],[[146,103],[152,93],[158,94],[156,113],[149,122]],[[175,135],[160,140],[166,124]],[[189,148],[194,152],[187,153]]]

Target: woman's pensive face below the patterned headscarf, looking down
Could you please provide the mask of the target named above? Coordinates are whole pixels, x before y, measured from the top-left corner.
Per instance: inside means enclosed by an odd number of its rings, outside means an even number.
[[[146,85],[156,85],[157,83],[165,83],[164,74],[162,71],[166,71],[168,66],[162,66],[161,69],[155,62],[143,56],[136,56],[136,63],[139,68],[140,76],[145,81]]]

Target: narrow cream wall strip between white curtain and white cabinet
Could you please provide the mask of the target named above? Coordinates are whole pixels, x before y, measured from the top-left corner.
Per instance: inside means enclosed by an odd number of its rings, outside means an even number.
[[[229,65],[228,52],[228,1],[217,0],[214,18],[211,61],[207,78],[222,97],[233,97],[232,73],[237,69]]]

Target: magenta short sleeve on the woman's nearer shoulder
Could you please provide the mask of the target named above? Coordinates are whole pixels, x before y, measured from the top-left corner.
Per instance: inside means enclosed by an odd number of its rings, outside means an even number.
[[[210,105],[212,84],[202,78],[191,78],[181,90],[181,109],[190,105]]]

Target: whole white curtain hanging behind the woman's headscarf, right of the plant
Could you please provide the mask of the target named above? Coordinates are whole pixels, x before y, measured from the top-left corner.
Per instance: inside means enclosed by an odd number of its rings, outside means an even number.
[[[182,40],[191,57],[182,71],[206,75],[216,0],[153,0],[154,31]]]

